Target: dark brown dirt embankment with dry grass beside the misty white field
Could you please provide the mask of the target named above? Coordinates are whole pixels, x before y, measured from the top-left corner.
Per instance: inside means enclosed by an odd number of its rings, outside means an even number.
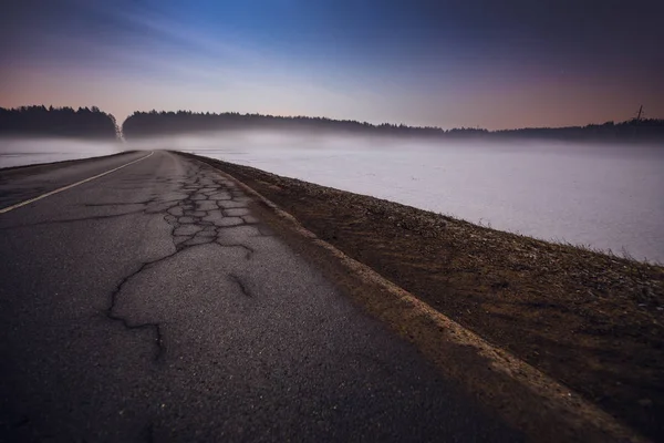
[[[664,439],[664,268],[197,158],[453,320]]]

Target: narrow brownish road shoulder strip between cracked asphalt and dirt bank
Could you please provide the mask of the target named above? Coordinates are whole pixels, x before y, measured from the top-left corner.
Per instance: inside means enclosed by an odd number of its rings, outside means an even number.
[[[215,165],[214,161],[207,163]],[[460,381],[533,440],[645,441],[577,392],[433,309],[317,237],[242,182],[220,173],[252,195],[260,217],[292,248],[310,257],[353,300],[414,343],[446,377]]]

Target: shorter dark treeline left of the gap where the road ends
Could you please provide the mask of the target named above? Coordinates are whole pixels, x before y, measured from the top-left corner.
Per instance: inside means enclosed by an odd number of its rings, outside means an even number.
[[[115,117],[96,106],[0,107],[0,136],[60,136],[76,138],[117,138]]]

